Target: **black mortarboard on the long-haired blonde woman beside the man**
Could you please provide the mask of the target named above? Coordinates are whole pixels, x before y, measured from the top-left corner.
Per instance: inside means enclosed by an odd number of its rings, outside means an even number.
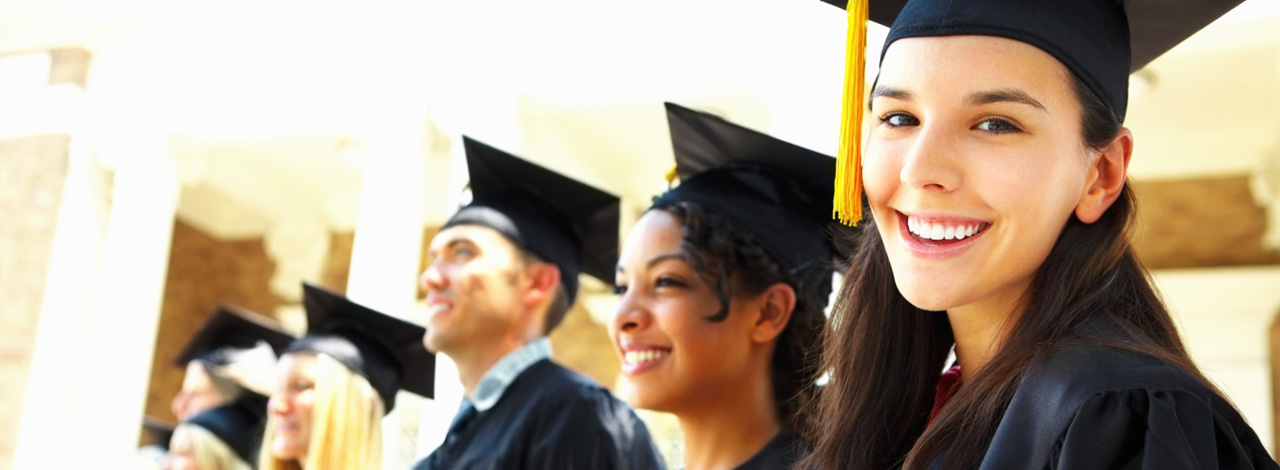
[[[385,411],[396,391],[435,397],[435,355],[422,346],[422,327],[352,302],[324,288],[302,284],[307,336],[285,352],[320,352],[369,380]]]

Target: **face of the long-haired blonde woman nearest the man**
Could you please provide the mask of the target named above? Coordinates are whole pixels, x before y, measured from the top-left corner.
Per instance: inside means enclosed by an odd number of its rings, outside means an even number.
[[[315,405],[316,356],[287,353],[280,357],[275,393],[268,402],[271,457],[303,460],[311,442],[311,409]]]

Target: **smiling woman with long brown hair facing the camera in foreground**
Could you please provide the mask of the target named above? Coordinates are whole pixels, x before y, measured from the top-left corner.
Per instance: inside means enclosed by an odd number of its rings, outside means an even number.
[[[1170,17],[1125,8],[908,1],[870,93],[874,229],[832,312],[808,465],[1276,467],[1129,243],[1128,24]],[[1179,15],[1166,32],[1210,20]]]

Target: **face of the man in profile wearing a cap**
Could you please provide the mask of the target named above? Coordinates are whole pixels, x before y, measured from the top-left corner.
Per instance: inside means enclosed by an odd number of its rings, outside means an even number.
[[[419,278],[428,350],[452,356],[518,328],[525,263],[515,243],[486,227],[454,225],[431,239],[429,256]]]

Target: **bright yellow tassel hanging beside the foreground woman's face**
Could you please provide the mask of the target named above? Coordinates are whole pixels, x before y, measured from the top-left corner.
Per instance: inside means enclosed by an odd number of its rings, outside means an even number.
[[[867,90],[867,3],[850,0],[845,42],[845,97],[840,117],[840,154],[836,155],[835,218],[846,225],[863,219],[863,109]]]

